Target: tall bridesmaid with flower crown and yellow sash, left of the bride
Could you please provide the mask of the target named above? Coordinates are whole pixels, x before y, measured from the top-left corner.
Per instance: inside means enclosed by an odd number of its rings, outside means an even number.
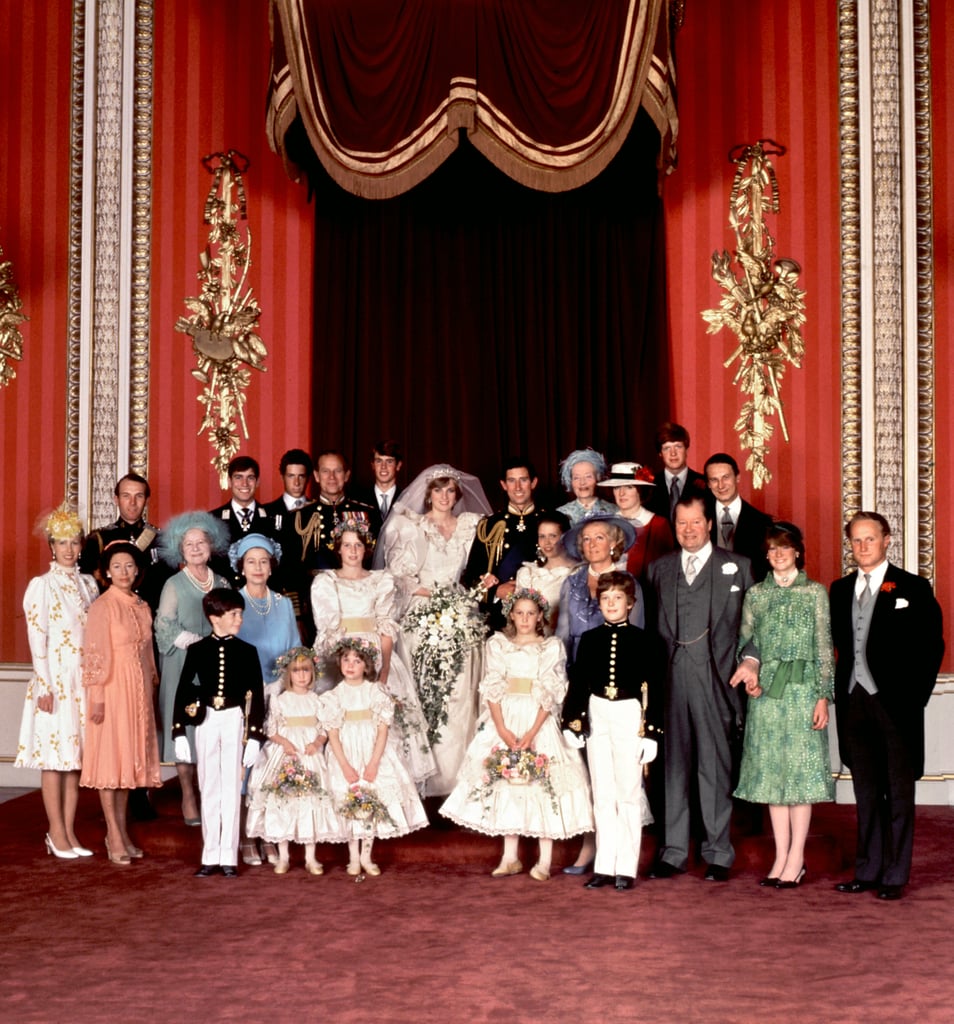
[[[410,777],[421,783],[437,771],[437,763],[395,617],[394,577],[387,569],[364,568],[373,541],[363,520],[345,513],[332,539],[341,567],[324,569],[311,585],[316,643],[331,649],[344,636],[359,636],[380,649],[378,682],[396,700],[391,737]]]

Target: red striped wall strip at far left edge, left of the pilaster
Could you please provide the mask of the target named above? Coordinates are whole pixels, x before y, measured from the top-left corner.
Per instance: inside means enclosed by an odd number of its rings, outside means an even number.
[[[71,6],[4,4],[0,32],[0,246],[30,317],[0,389],[0,662],[29,660],[24,590],[50,561],[33,525],[66,481]]]

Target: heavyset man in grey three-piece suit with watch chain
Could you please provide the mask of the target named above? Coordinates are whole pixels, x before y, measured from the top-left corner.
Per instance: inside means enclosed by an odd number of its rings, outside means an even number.
[[[668,879],[689,860],[691,777],[695,771],[705,840],[706,881],[726,882],[735,851],[732,816],[732,734],[742,726],[741,694],[730,685],[757,679],[758,652],[749,644],[736,668],[742,599],[752,585],[743,555],[716,548],[700,495],[676,505],[679,550],[649,566],[657,630],[667,655],[664,712],[665,836],[650,878]]]

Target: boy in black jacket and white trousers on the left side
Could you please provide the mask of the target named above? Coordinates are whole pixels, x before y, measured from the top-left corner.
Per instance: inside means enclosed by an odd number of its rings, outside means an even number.
[[[202,795],[202,866],[199,878],[238,873],[238,823],[243,768],[258,757],[265,693],[258,652],[235,635],[245,599],[226,588],[210,590],[202,610],[212,635],[186,652],[176,690],[172,735],[176,757],[188,760],[186,725],[196,725],[199,792]],[[245,736],[243,735],[245,732]],[[243,755],[243,739],[245,744]]]

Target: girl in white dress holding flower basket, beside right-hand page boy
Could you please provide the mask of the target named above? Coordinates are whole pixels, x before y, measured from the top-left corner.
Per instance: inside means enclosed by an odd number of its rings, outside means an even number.
[[[579,752],[560,731],[566,653],[558,637],[544,637],[547,600],[517,588],[503,610],[507,627],[485,649],[480,694],[486,707],[440,813],[504,837],[494,878],[522,871],[519,838],[535,837],[539,855],[530,877],[546,882],[553,841],[593,830],[590,784]]]

